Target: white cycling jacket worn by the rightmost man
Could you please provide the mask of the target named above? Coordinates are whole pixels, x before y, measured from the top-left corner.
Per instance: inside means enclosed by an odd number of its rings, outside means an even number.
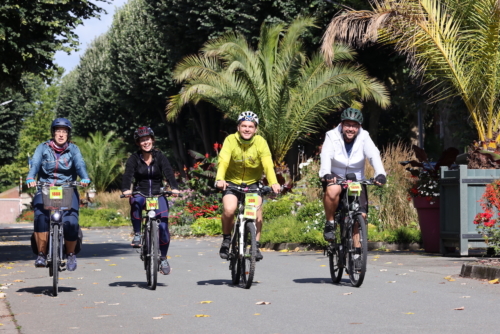
[[[380,159],[380,151],[370,138],[368,131],[359,128],[358,135],[354,139],[351,156],[347,156],[344,138],[342,136],[342,124],[326,133],[325,142],[321,149],[321,167],[319,176],[335,173],[345,177],[348,173],[355,173],[358,180],[365,178],[365,158],[375,169],[375,176],[386,175],[384,165]]]

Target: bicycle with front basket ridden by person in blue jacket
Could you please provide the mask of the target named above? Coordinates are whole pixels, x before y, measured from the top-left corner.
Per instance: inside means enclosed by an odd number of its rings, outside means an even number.
[[[55,186],[38,181],[36,185],[42,190],[43,208],[50,211],[47,267],[49,268],[49,277],[52,277],[52,295],[55,297],[59,292],[59,272],[66,269],[62,211],[71,209],[74,189],[76,186],[80,186],[80,182],[74,181]]]

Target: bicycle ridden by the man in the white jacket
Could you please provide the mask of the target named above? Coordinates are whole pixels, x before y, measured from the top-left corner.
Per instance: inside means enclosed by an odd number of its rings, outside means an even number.
[[[339,208],[335,213],[335,226],[339,226],[340,233],[335,233],[335,240],[326,247],[330,265],[330,275],[333,283],[339,283],[344,269],[349,274],[349,279],[354,287],[363,284],[366,273],[368,253],[367,225],[359,211],[359,195],[362,184],[374,185],[373,179],[356,181],[349,179],[337,180],[331,185],[340,185],[346,188],[341,194]],[[360,247],[355,247],[354,228],[359,231]],[[336,229],[336,227],[335,227]]]

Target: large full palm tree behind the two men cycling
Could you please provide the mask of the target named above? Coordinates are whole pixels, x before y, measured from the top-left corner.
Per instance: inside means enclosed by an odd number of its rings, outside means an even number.
[[[335,44],[331,66],[319,54],[306,56],[300,36],[310,27],[314,20],[307,17],[288,27],[264,24],[256,50],[237,33],[208,41],[200,54],[177,64],[173,77],[183,87],[170,99],[168,120],[201,100],[233,119],[252,110],[261,120],[259,134],[275,163],[281,163],[293,143],[317,132],[332,109],[359,107],[368,99],[387,107],[385,86],[352,63],[351,48]]]

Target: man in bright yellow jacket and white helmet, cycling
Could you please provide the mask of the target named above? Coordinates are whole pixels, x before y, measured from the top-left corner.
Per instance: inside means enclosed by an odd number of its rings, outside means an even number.
[[[259,189],[259,181],[262,172],[267,176],[267,180],[275,193],[279,193],[280,185],[274,173],[273,159],[271,151],[264,138],[256,135],[259,118],[252,111],[245,111],[238,117],[238,132],[229,135],[222,150],[219,153],[219,167],[215,186],[223,190],[222,205],[222,245],[220,257],[228,258],[229,245],[231,243],[231,230],[234,225],[234,213],[238,206],[238,193],[227,189],[228,185],[247,186],[251,189]],[[260,231],[262,230],[262,197],[259,196],[259,210],[257,211],[257,261],[262,260],[260,253]]]

